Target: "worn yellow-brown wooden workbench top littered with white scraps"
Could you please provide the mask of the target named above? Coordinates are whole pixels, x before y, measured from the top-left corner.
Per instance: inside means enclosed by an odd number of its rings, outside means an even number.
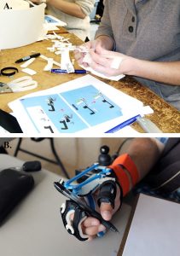
[[[76,36],[70,33],[61,34],[64,38],[69,38],[69,41],[73,44],[80,45],[82,41]],[[29,44],[24,47],[16,49],[4,49],[0,52],[0,69],[3,67],[18,67],[19,71],[21,70],[20,64],[15,64],[15,61],[20,59],[23,56],[31,55],[33,52],[40,52],[42,55],[47,57],[53,57],[55,61],[60,62],[60,56],[55,55],[54,53],[49,52],[47,47],[52,46],[50,40],[44,40],[37,42],[35,44]],[[73,52],[71,52],[71,57],[73,58]],[[77,79],[83,74],[62,74],[57,75],[49,72],[44,72],[44,66],[47,64],[47,61],[44,61],[42,58],[38,57],[29,68],[37,71],[37,74],[33,75],[33,79],[38,81],[38,88],[35,90],[30,90],[20,93],[7,93],[0,95],[0,108],[10,112],[11,109],[8,107],[8,103],[14,101],[20,96],[25,96],[28,93],[32,93],[38,90],[45,90],[49,87],[54,87],[57,84],[65,83],[72,79]],[[75,68],[78,68],[78,63],[75,63]],[[10,80],[17,79],[26,75],[26,73],[19,72],[15,74],[14,77],[8,78],[1,76],[1,82],[8,83]],[[97,79],[100,79],[97,77]],[[135,97],[136,99],[142,101],[144,105],[148,105],[154,109],[154,113],[148,116],[154,124],[156,124],[161,131],[165,133],[179,133],[180,132],[180,112],[177,109],[171,107],[168,103],[162,100],[159,96],[156,96],[154,92],[148,90],[142,84],[136,82],[135,79],[126,76],[125,79],[121,79],[118,82],[111,81],[107,79],[101,79],[107,84],[112,85],[116,89],[122,90],[126,94]],[[137,125],[132,125],[137,131],[142,132],[142,129]]]

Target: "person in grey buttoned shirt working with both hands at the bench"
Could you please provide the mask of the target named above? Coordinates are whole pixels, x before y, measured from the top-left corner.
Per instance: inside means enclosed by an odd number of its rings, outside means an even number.
[[[107,76],[131,75],[180,110],[180,1],[106,0],[90,61]],[[114,64],[114,61],[116,64]]]

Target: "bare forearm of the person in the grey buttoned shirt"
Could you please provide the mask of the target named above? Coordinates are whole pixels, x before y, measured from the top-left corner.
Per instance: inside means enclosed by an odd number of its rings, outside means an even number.
[[[180,85],[180,61],[142,61],[134,58],[122,63],[125,74],[154,80],[163,84]]]

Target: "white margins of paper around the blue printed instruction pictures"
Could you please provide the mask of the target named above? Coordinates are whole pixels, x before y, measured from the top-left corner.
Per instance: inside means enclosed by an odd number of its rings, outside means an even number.
[[[24,99],[32,96],[42,96],[42,95],[48,96],[49,94],[62,93],[67,90],[83,88],[84,86],[87,86],[90,84],[96,87],[97,90],[100,90],[105,96],[107,96],[110,100],[112,100],[113,103],[117,104],[121,108],[121,112],[123,114],[118,118],[111,119],[100,125],[94,125],[82,131],[75,132],[76,136],[82,136],[82,135],[98,136],[100,134],[102,135],[105,131],[113,128],[115,125],[119,125],[126,119],[130,119],[136,114],[143,114],[144,107],[142,102],[136,100],[131,96],[126,95],[125,93],[122,93],[117,89],[114,89],[112,86],[105,84],[102,81],[90,75],[85,75],[82,78],[74,79],[65,84],[55,86],[54,88],[51,88],[49,90],[38,91],[36,93],[29,94],[22,98]],[[35,126],[31,121],[31,119],[29,118],[29,116],[27,115],[25,108],[22,107],[20,99],[15,100],[14,102],[10,102],[9,108],[11,108],[12,111],[15,113],[16,119],[18,119],[18,122],[20,123],[20,127],[22,131],[26,132],[26,134],[31,134],[31,136],[32,134],[37,134],[37,129],[35,129]],[[41,134],[42,134],[42,131],[41,131]],[[123,132],[123,134],[125,135],[125,132]]]

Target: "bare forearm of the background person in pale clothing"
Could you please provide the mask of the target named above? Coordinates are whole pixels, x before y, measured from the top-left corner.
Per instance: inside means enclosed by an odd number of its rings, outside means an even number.
[[[60,9],[67,15],[72,15],[80,19],[84,19],[86,16],[77,3],[68,3],[63,0],[47,0],[47,3],[54,6],[56,9]]]

